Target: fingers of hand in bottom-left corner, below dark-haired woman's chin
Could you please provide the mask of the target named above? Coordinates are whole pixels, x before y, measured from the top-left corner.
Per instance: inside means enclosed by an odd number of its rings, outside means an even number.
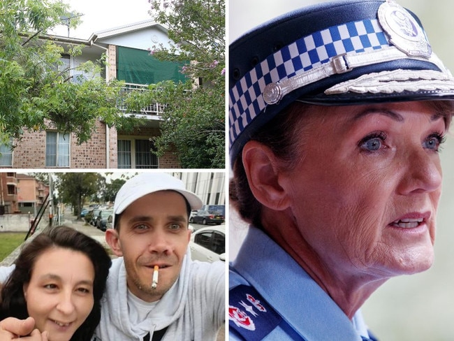
[[[47,331],[41,333],[34,328],[35,320],[32,317],[27,319],[15,319],[8,317],[0,321],[0,341],[47,341]]]

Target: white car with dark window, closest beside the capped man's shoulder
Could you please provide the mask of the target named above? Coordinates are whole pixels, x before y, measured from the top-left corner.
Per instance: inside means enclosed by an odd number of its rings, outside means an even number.
[[[226,226],[203,227],[194,231],[189,247],[193,260],[226,261]]]

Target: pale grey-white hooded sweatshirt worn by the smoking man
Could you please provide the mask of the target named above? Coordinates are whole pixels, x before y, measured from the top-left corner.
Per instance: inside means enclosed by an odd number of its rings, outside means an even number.
[[[216,340],[217,331],[224,323],[224,297],[225,263],[191,261],[187,252],[178,280],[147,319],[133,324],[128,308],[126,268],[120,257],[112,261],[107,291],[101,301],[101,321],[93,340],[143,340],[147,333],[152,340],[154,331],[166,327],[162,341]]]

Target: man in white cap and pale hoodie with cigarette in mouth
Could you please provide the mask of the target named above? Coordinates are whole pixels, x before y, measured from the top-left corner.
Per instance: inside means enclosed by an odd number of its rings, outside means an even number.
[[[141,173],[115,198],[112,262],[94,340],[215,340],[224,323],[223,262],[191,261],[188,219],[202,201],[182,181]]]

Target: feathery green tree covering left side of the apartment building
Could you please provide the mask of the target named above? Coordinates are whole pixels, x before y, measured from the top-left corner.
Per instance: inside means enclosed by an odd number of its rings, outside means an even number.
[[[78,66],[78,73],[96,75],[81,84],[63,68],[61,55],[78,56],[81,46],[58,45],[45,34],[68,10],[61,1],[0,1],[0,143],[47,124],[74,132],[78,143],[89,140],[97,119],[120,129],[138,124],[117,115],[122,83],[106,84],[99,76],[103,60]]]

